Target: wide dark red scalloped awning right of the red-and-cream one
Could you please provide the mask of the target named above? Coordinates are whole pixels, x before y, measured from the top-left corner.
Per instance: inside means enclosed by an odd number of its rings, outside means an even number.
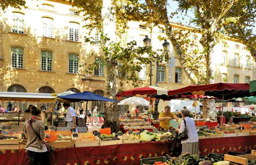
[[[184,88],[168,91],[168,99],[182,95],[204,95],[222,99],[232,99],[250,96],[249,84],[217,83],[200,86],[187,86]]]

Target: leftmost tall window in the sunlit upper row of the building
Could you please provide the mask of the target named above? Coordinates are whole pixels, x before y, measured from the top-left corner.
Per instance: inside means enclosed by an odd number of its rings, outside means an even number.
[[[24,14],[17,12],[13,13],[12,31],[15,33],[24,33]]]

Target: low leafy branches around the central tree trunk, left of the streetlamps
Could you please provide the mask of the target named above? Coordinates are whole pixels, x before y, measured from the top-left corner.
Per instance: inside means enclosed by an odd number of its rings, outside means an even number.
[[[109,40],[108,38],[101,36],[102,40]],[[93,38],[86,38],[87,42],[93,42]],[[136,41],[127,43],[127,46],[122,46],[120,42],[111,42],[109,46],[102,47],[104,53],[103,58],[87,64],[84,64],[85,72],[92,74],[94,69],[99,67],[99,64],[106,67],[107,70],[115,70],[113,77],[116,77],[118,70],[122,75],[119,77],[121,82],[120,86],[124,85],[123,81],[131,81],[134,87],[137,87],[141,81],[138,81],[138,72],[142,69],[142,64],[150,64],[158,61],[159,63],[165,63],[169,61],[168,52],[164,50],[153,51],[152,47],[139,47]],[[91,58],[94,53],[89,55]],[[159,58],[157,58],[157,55]],[[111,68],[111,69],[110,69]],[[111,74],[111,73],[110,73]],[[121,90],[121,89],[120,89]]]

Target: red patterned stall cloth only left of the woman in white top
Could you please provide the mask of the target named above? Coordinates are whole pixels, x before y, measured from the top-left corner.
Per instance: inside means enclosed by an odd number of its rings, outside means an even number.
[[[138,165],[141,158],[163,156],[171,142],[119,144],[96,147],[56,149],[52,165]],[[1,150],[1,165],[28,165],[25,150]]]

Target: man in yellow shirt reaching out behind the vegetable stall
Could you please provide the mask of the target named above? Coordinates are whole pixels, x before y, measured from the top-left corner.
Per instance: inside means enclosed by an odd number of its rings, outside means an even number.
[[[170,129],[170,120],[175,119],[179,120],[179,118],[172,112],[170,112],[170,106],[165,106],[165,112],[159,114],[158,119],[160,120],[159,129]]]

